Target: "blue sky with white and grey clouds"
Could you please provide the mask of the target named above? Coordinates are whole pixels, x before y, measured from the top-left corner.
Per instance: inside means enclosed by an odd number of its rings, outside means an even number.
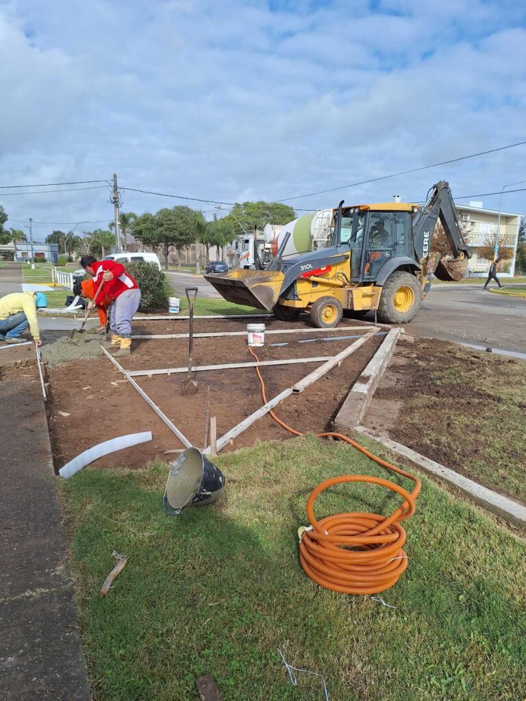
[[[0,53],[2,186],[116,172],[124,187],[282,200],[526,140],[518,0],[13,0]],[[526,180],[525,163],[526,145],[290,204],[421,200],[438,179],[476,195]],[[83,187],[2,189],[7,226],[50,222],[40,239],[109,221],[106,184]],[[503,208],[525,212],[525,194]]]

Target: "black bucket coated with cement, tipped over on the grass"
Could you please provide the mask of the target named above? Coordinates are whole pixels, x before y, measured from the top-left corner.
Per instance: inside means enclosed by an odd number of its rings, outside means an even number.
[[[211,504],[222,495],[224,475],[197,448],[187,448],[170,465],[163,497],[167,514],[179,514],[185,506]]]

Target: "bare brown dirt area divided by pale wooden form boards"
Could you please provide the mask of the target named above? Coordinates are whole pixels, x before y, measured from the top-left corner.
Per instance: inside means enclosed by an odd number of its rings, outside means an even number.
[[[304,327],[277,320],[267,320],[267,329]],[[360,334],[360,322],[344,320],[339,328],[328,331],[309,329],[306,334],[269,334],[264,348],[256,349],[259,360],[280,358],[312,358],[332,356],[356,339],[323,341],[334,336]],[[358,330],[342,330],[353,327]],[[243,336],[195,339],[194,365],[217,365],[227,362],[250,362],[246,340],[246,321],[201,320],[196,332],[242,330]],[[159,334],[187,332],[187,322],[143,322],[134,325],[133,333]],[[277,413],[290,425],[302,431],[321,431],[332,427],[332,420],[344,401],[349,388],[363,371],[384,336],[375,336],[356,353],[349,356],[339,368],[316,381],[300,395],[289,397],[278,407]],[[304,343],[309,339],[318,339]],[[272,346],[272,343],[287,345]],[[188,361],[187,339],[139,339],[133,341],[134,352],[123,358],[122,365],[131,369],[159,369],[184,367]],[[320,363],[301,363],[263,367],[267,397],[274,397],[283,389],[302,379]],[[154,439],[140,446],[106,456],[95,463],[97,467],[123,465],[136,468],[155,458],[167,459],[164,451],[182,447],[154,411],[148,407],[136,390],[105,357],[96,360],[74,360],[47,369],[50,398],[48,419],[52,437],[55,469],[93,444],[110,438],[152,430]],[[217,435],[223,435],[263,404],[255,369],[233,369],[221,372],[198,372],[198,393],[183,397],[180,394],[184,374],[140,376],[135,378],[177,428],[197,447],[204,447],[205,411],[209,396],[209,415],[217,417]],[[208,387],[210,391],[208,393]],[[59,412],[62,412],[60,414]],[[67,414],[64,416],[63,414]],[[259,440],[278,438],[286,440],[289,434],[264,416],[242,433],[227,449],[238,449]]]

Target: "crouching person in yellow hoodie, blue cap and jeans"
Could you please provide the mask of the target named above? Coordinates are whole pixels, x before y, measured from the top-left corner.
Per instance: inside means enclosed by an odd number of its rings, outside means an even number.
[[[30,327],[36,346],[41,346],[36,310],[48,306],[43,292],[13,292],[0,299],[0,341],[23,343],[21,334]]]

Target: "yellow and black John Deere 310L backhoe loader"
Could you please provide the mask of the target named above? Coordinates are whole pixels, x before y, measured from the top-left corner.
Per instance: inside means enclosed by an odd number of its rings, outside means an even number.
[[[437,220],[452,254],[431,251]],[[205,279],[224,299],[274,311],[293,320],[310,314],[318,328],[331,328],[342,315],[359,318],[377,311],[379,321],[405,324],[429,292],[432,275],[461,280],[471,250],[445,181],[434,185],[424,206],[388,202],[335,210],[328,247],[282,256],[286,240],[265,270],[236,270]]]

